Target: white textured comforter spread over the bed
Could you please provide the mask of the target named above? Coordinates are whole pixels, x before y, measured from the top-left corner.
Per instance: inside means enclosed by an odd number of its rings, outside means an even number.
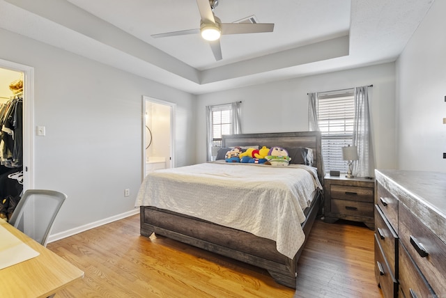
[[[208,162],[146,176],[136,206],[155,206],[274,240],[289,258],[305,240],[302,210],[322,189],[310,166]]]

